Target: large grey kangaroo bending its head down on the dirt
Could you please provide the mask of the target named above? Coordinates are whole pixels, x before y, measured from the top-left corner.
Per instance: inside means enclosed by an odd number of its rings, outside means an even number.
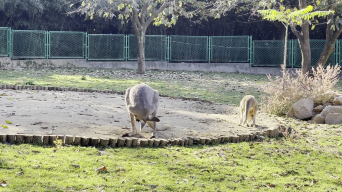
[[[169,129],[169,126],[156,127],[156,122],[160,120],[156,117],[159,104],[159,93],[150,86],[140,83],[126,89],[125,94],[126,108],[130,117],[131,131],[122,135],[129,137],[137,133],[135,121],[140,122],[140,129],[147,124],[153,129],[152,138],[156,138],[156,131]]]

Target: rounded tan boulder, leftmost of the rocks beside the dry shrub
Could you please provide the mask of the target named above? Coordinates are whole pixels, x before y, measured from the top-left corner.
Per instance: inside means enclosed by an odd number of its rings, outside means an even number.
[[[310,98],[299,100],[292,105],[291,110],[297,119],[309,119],[312,117],[313,101]]]

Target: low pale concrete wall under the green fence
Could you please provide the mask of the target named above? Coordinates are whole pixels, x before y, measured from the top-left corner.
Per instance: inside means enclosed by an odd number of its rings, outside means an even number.
[[[16,66],[137,69],[136,61],[86,61],[85,59],[11,60],[8,57],[0,57],[0,67]],[[249,63],[167,63],[166,61],[146,61],[146,70],[150,69],[282,75],[281,68],[250,67]]]

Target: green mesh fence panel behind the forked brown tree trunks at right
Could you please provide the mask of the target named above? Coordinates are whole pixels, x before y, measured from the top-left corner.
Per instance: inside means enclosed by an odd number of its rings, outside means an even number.
[[[314,66],[320,56],[320,53],[323,50],[325,40],[310,40],[310,49],[311,49],[311,66]],[[336,43],[334,45],[336,49]],[[328,60],[326,61],[326,65],[332,64],[334,65],[336,62],[334,61],[334,53],[331,53]],[[294,47],[293,47],[293,66],[300,67],[301,66],[301,51],[299,47],[299,42],[297,39],[294,40]]]

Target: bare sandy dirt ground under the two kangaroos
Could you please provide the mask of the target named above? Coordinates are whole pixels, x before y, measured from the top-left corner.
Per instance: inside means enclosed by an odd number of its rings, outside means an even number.
[[[257,127],[238,126],[239,108],[232,105],[168,97],[159,100],[157,125],[171,126],[157,132],[159,138],[229,136],[277,126],[275,120],[260,112]],[[0,125],[8,127],[1,127],[1,134],[120,137],[130,129],[124,95],[118,94],[2,89],[0,115]],[[135,137],[150,138],[151,133],[146,126]]]

